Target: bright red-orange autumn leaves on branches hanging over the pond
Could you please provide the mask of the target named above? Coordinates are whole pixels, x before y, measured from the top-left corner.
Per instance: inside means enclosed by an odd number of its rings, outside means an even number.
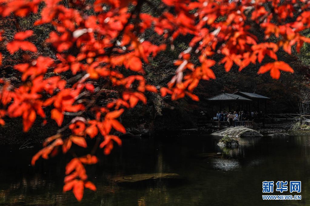
[[[239,71],[249,64],[258,65],[258,74],[270,72],[274,79],[281,71],[294,72],[289,64],[278,61],[279,50],[291,54],[300,51],[310,38],[301,31],[310,27],[308,0],[0,0],[2,18],[27,18],[37,13],[40,18],[33,28],[50,24],[53,31],[45,46],[53,47],[55,58],[38,50],[33,30],[21,30],[12,40],[0,31],[0,65],[16,52],[27,54],[22,63],[12,65],[20,74],[21,84],[1,81],[0,124],[4,117],[22,117],[24,132],[32,127],[37,116],[43,124],[55,121],[57,134],[48,137],[33,156],[48,159],[57,153],[68,153],[73,144],[87,147],[87,138],[96,138],[95,147],[109,154],[117,136],[126,133],[119,117],[124,109],[146,103],[145,92],[171,95],[172,100],[185,95],[198,101],[193,90],[200,80],[215,79],[212,66],[223,64]],[[153,11],[144,13],[143,7]],[[87,11],[92,14],[87,15]],[[253,28],[263,33],[255,35]],[[153,37],[146,38],[146,30]],[[179,36],[189,38],[188,48],[175,59],[175,75],[166,87],[150,85],[145,80],[144,66],[163,50],[173,50]],[[153,39],[161,39],[161,43]],[[219,62],[212,59],[222,55]],[[29,58],[30,57],[30,58]],[[198,59],[198,61],[192,61]],[[195,63],[194,63],[195,62]],[[62,74],[70,72],[71,78]],[[93,82],[104,83],[94,86]],[[118,98],[107,105],[98,98],[116,90]],[[85,115],[87,113],[87,115]],[[49,120],[50,117],[52,120]],[[64,117],[71,118],[69,123]],[[71,135],[64,135],[71,131]],[[95,150],[93,150],[95,151]],[[73,156],[74,157],[74,156]],[[64,191],[73,190],[81,200],[84,188],[96,190],[87,180],[85,165],[98,161],[94,153],[74,157],[66,166]]]

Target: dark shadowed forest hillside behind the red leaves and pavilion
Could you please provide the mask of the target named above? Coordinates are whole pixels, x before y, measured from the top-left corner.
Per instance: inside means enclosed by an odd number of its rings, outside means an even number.
[[[62,2],[67,5],[67,2]],[[91,3],[91,2],[88,2]],[[153,1],[153,4],[159,5],[160,1]],[[42,9],[43,5],[40,6]],[[143,12],[152,13],[152,9],[148,4],[143,5]],[[91,10],[86,15],[94,14]],[[26,18],[16,18],[14,16],[0,19],[0,28],[4,30],[3,37],[10,41],[13,39],[15,32],[31,29],[34,31],[32,41],[38,48],[38,53],[44,56],[52,57],[56,60],[56,51],[51,45],[44,43],[44,40],[49,36],[49,33],[54,29],[50,24],[44,24],[40,26],[33,26],[35,20],[39,18],[38,14],[29,15]],[[222,17],[225,18],[225,17]],[[218,21],[221,19],[219,18]],[[255,34],[259,41],[264,41],[262,32],[257,30],[255,26],[252,27],[252,32]],[[154,43],[161,43],[161,38],[153,32],[148,30],[143,37]],[[310,36],[310,31],[303,31],[303,35]],[[171,77],[175,74],[176,66],[173,65],[174,60],[178,59],[180,52],[184,51],[188,47],[188,42],[191,36],[179,36],[175,40],[174,49],[167,48],[166,51],[161,52],[157,57],[150,61],[150,64],[145,64],[146,79],[150,84],[155,86],[165,86],[170,81]],[[272,41],[272,38],[271,40]],[[3,55],[3,64],[1,66],[1,77],[9,80],[12,84],[20,84],[20,73],[13,69],[13,65],[22,63],[25,59],[31,59],[33,53],[22,54],[15,53],[10,55],[5,48],[0,48],[0,52]],[[74,49],[69,51],[74,55]],[[171,101],[170,97],[162,98],[160,94],[147,93],[148,103],[143,105],[139,103],[134,109],[127,110],[122,115],[122,123],[126,126],[129,132],[141,132],[141,128],[147,128],[152,130],[167,130],[167,129],[185,129],[195,128],[197,118],[200,116],[201,111],[206,111],[207,116],[210,118],[215,115],[218,109],[212,107],[208,103],[207,99],[221,94],[223,92],[233,93],[237,90],[244,92],[255,92],[260,95],[264,95],[270,98],[267,102],[268,113],[299,113],[299,104],[308,103],[309,90],[309,65],[310,65],[310,45],[304,44],[301,49],[301,53],[297,54],[296,51],[292,52],[292,55],[279,50],[277,52],[279,61],[285,61],[294,69],[294,73],[281,73],[279,80],[273,80],[269,73],[258,75],[257,71],[260,65],[253,65],[243,69],[241,72],[237,71],[237,67],[233,66],[231,71],[225,72],[224,65],[216,64],[212,69],[215,72],[216,79],[210,81],[201,81],[201,83],[194,90],[199,98],[199,102],[195,102],[189,98],[179,99],[177,101]],[[217,54],[213,59],[217,62],[222,58]],[[191,61],[195,62],[197,59],[192,57]],[[267,56],[263,62],[270,61]],[[120,68],[122,69],[122,68]],[[133,74],[128,71],[128,75]],[[72,76],[71,72],[61,74],[63,79],[68,79]],[[96,82],[100,85],[104,82],[100,79]],[[117,91],[111,91],[109,95],[103,96],[99,104],[105,105],[111,99],[117,96]],[[232,108],[234,109],[234,108]],[[1,134],[3,136],[25,136],[22,133],[22,125],[19,119],[6,120],[7,124],[4,128],[1,128]],[[27,137],[30,137],[34,132],[36,135],[46,138],[50,136],[53,131],[57,129],[54,122],[50,122],[47,126],[42,127],[40,120],[37,120],[37,124],[30,130]],[[13,128],[13,129],[12,129]],[[140,129],[139,129],[140,128]],[[14,130],[14,131],[12,131]],[[139,131],[138,131],[139,130]],[[13,140],[14,141],[14,140]]]

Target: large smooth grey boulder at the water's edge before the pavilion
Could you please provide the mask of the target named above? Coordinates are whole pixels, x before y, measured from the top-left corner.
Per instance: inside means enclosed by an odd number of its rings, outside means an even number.
[[[230,127],[220,130],[218,132],[213,132],[212,135],[217,136],[228,136],[228,137],[262,137],[263,135],[254,129],[246,128],[243,126]]]

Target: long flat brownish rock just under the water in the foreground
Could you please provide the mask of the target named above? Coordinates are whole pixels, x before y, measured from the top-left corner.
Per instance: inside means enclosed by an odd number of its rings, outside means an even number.
[[[136,183],[152,179],[184,179],[184,178],[176,173],[133,174],[128,176],[111,178],[112,181],[117,183]]]

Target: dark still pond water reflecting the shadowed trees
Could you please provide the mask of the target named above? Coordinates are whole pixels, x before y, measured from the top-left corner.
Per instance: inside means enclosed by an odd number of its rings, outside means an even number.
[[[216,145],[217,137],[186,133],[125,138],[122,148],[107,157],[102,154],[100,164],[86,168],[98,190],[86,189],[81,202],[72,192],[62,193],[69,156],[40,160],[32,167],[29,164],[37,146],[1,146],[0,205],[310,205],[309,136],[242,141],[243,146],[223,149]],[[199,158],[201,153],[218,152],[222,154]],[[114,176],[161,172],[178,173],[186,180],[125,186],[108,181]],[[298,195],[302,199],[262,200],[262,182],[266,180],[300,180]]]

